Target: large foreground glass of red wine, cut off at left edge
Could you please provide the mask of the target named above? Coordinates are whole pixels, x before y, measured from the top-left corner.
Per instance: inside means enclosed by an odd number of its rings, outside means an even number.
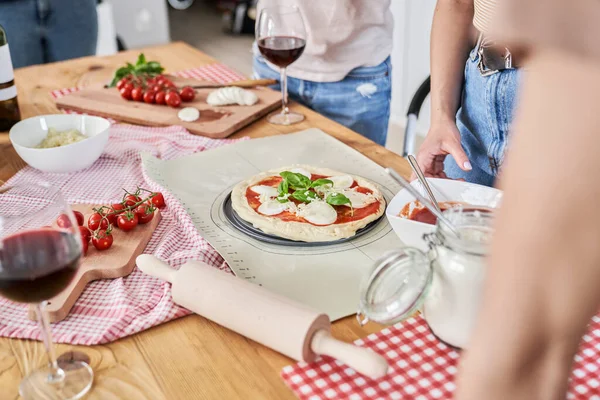
[[[45,310],[47,300],[74,278],[82,247],[77,220],[58,189],[45,184],[0,187],[0,296],[35,304],[49,359],[21,381],[24,399],[78,399],[92,386],[89,365],[57,362]]]

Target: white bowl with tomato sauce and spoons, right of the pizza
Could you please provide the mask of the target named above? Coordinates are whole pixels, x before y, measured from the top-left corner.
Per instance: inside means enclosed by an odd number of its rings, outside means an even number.
[[[493,212],[502,200],[502,191],[474,183],[451,179],[427,178],[442,211],[461,207],[463,210]],[[411,182],[427,198],[418,180]],[[435,231],[436,217],[420,204],[406,189],[394,196],[387,207],[386,217],[404,245],[426,251],[423,235]]]

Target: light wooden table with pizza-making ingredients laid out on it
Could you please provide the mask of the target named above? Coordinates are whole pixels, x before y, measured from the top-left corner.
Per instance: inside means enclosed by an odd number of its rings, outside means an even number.
[[[167,71],[215,62],[183,43],[143,50]],[[53,89],[109,80],[117,66],[135,60],[139,51],[109,57],[87,57],[33,66],[15,71],[23,118],[57,113],[49,92]],[[382,166],[408,176],[408,164],[397,154],[355,132],[299,105],[292,109],[306,115],[298,125],[284,127],[261,119],[233,137],[263,137],[318,127],[359,150]],[[7,180],[24,166],[0,133],[0,180]],[[1,318],[1,316],[0,316]],[[333,325],[337,338],[353,341],[380,330],[359,327],[353,317]],[[262,345],[192,315],[102,346],[58,345],[58,354],[69,350],[87,353],[96,374],[87,399],[293,399],[279,373],[292,363]],[[0,399],[17,399],[22,376],[46,362],[40,342],[0,338]]]

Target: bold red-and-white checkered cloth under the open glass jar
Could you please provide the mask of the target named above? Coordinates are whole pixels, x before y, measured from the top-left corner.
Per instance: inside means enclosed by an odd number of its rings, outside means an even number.
[[[450,399],[456,388],[459,353],[433,336],[425,320],[415,317],[357,340],[384,356],[391,372],[378,380],[322,357],[283,369],[285,383],[302,400]],[[575,357],[567,399],[600,400],[600,317],[596,316]]]

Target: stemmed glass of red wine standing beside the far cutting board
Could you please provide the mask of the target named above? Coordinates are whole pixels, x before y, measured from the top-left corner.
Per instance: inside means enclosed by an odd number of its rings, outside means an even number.
[[[292,125],[304,120],[304,115],[288,108],[287,67],[295,62],[306,47],[306,30],[296,7],[266,7],[258,17],[256,41],[260,53],[281,73],[281,112],[267,117],[272,124]]]

